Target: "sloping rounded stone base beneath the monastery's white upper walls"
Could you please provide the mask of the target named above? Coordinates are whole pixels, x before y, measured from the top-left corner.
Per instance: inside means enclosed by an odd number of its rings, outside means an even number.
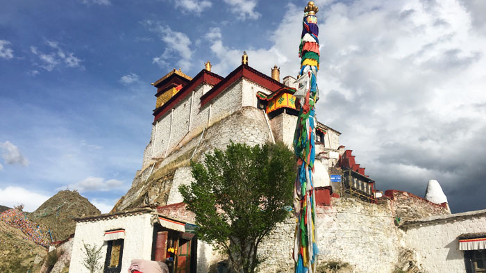
[[[159,188],[163,186],[162,188],[166,189],[167,185],[169,185],[167,183],[170,183],[168,190],[152,190],[151,192],[155,192],[157,196],[149,194],[147,195],[147,200],[157,200],[160,206],[182,201],[181,195],[178,193],[178,185],[181,185],[182,183],[190,183],[191,180],[188,176],[190,170],[185,169],[184,171],[181,169],[181,171],[178,171],[176,169],[185,167],[194,151],[196,151],[194,153],[194,159],[202,159],[201,155],[212,151],[215,148],[225,149],[231,141],[235,143],[246,143],[253,146],[255,144],[264,144],[271,140],[269,128],[265,121],[265,115],[261,110],[253,107],[240,108],[240,110],[211,124],[210,127],[204,131],[203,138],[201,138],[201,134],[202,131],[199,135],[195,135],[192,139],[181,144],[180,147],[176,147],[176,149],[167,155],[167,158],[158,162],[153,169],[149,165],[141,172],[137,172],[137,176],[133,179],[131,189],[128,190],[124,197],[121,197],[117,204],[115,204],[114,211],[140,206],[142,204],[141,198],[153,188],[151,185],[158,185]],[[200,139],[201,142],[199,142]],[[181,166],[178,167],[178,165]],[[181,179],[177,179],[176,183],[178,183],[178,185],[174,186],[174,189],[172,189],[171,186],[171,183],[173,182],[172,177],[163,179],[163,177],[169,174],[169,171],[180,172],[178,175],[181,175]],[[182,174],[182,172],[185,172],[185,174]],[[159,185],[160,181],[165,181],[165,184]],[[165,200],[170,201],[167,203],[161,202],[164,199],[160,198],[158,195],[165,195],[165,192],[168,191],[171,193],[167,197],[168,199]]]

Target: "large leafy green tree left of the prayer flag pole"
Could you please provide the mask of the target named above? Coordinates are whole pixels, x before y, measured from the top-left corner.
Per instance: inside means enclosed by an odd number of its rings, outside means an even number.
[[[228,254],[236,272],[255,272],[258,245],[289,215],[296,175],[292,151],[283,143],[232,142],[191,166],[194,182],[179,190],[196,215],[198,238]]]

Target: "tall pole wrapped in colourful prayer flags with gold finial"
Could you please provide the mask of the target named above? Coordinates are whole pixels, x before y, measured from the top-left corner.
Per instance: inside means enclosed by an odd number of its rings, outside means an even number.
[[[304,8],[303,28],[299,57],[299,89],[294,97],[299,99],[300,110],[294,134],[297,157],[297,176],[294,187],[294,213],[296,215],[294,261],[296,273],[315,272],[317,249],[315,236],[315,193],[312,171],[315,160],[315,104],[319,99],[317,71],[319,70],[319,27],[316,13],[319,8],[309,1]]]

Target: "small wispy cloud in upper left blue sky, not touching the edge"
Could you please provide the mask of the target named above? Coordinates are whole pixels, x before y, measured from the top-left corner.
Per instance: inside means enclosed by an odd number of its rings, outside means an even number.
[[[46,44],[49,46],[49,52],[44,53],[37,49],[37,47],[31,46],[31,52],[35,54],[40,60],[40,67],[46,69],[47,71],[52,71],[56,66],[60,65],[60,63],[64,63],[67,67],[80,67],[81,66],[81,59],[74,56],[72,52],[65,52],[60,46],[58,42],[55,41],[46,41]],[[37,71],[37,70],[34,70]],[[38,74],[32,74],[35,76]]]

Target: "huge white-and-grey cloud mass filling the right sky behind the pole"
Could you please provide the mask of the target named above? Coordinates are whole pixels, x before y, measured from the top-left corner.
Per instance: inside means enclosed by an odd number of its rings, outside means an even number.
[[[316,1],[317,5],[321,5]],[[474,1],[479,5],[480,1]],[[486,37],[483,17],[462,1],[331,2],[321,7],[319,121],[341,131],[340,144],[377,180],[380,190],[425,192],[441,183],[451,206],[463,205],[461,183],[486,190],[477,147],[486,140]],[[325,7],[325,8],[324,8]],[[476,10],[482,10],[480,5]],[[269,48],[229,47],[219,28],[206,35],[213,71],[249,65],[296,76],[303,10],[289,4]],[[294,57],[295,56],[295,57]],[[453,193],[452,193],[453,192]],[[477,202],[477,201],[476,201]],[[480,207],[477,207],[477,209]]]

